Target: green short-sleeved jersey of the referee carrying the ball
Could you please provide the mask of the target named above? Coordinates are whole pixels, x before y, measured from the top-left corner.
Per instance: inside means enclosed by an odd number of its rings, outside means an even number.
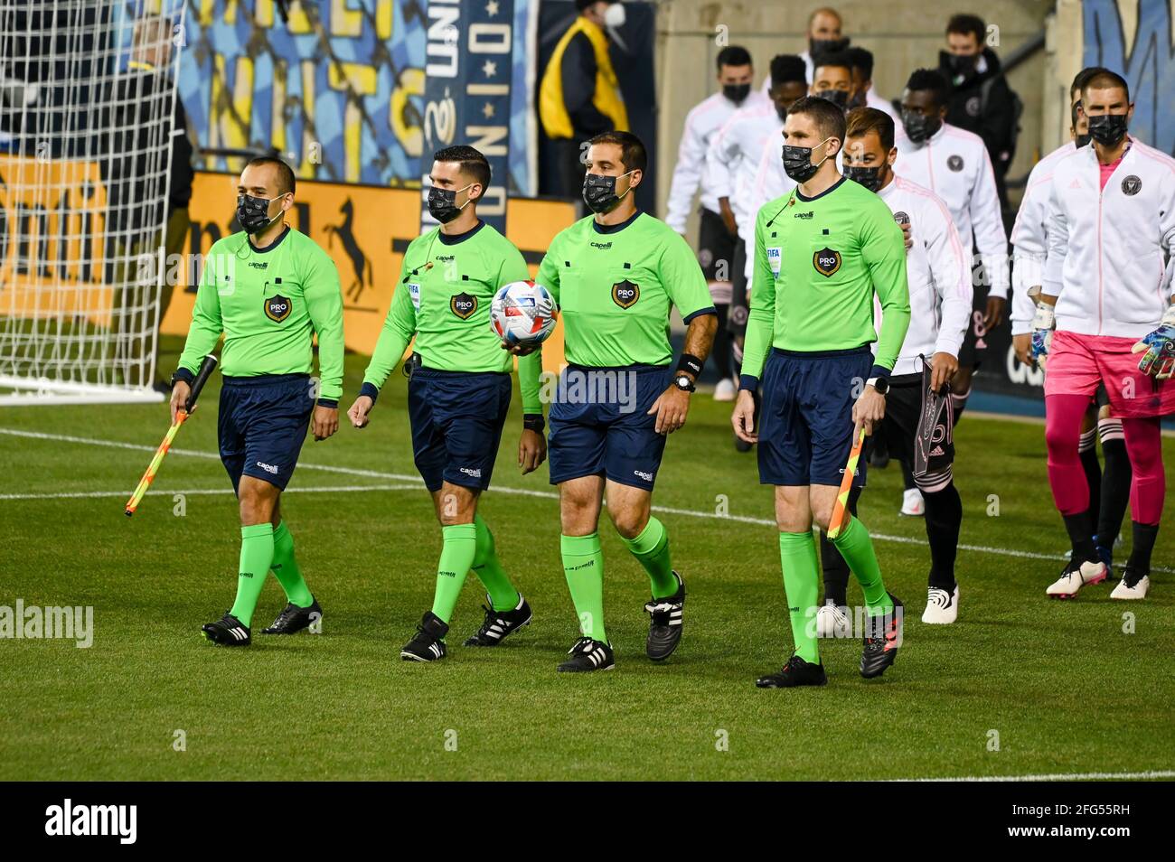
[[[714,314],[693,250],[646,213],[615,225],[576,222],[551,242],[535,281],[559,304],[575,365],[667,365],[670,305],[686,322]]]

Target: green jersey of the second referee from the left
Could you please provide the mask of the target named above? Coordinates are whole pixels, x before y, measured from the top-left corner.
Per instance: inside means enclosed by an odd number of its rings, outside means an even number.
[[[375,397],[414,337],[412,352],[425,368],[509,373],[513,355],[502,349],[502,339],[490,329],[490,304],[499,288],[529,278],[522,252],[485,222],[455,236],[438,227],[412,240],[363,375],[365,393]],[[518,359],[526,413],[542,412],[542,362],[537,351]]]

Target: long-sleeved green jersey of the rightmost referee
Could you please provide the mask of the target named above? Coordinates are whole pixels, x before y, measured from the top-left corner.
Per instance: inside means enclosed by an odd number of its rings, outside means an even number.
[[[795,188],[759,210],[744,377],[761,376],[771,346],[817,352],[874,341],[875,366],[892,370],[908,326],[906,245],[885,201],[840,179],[813,198]]]

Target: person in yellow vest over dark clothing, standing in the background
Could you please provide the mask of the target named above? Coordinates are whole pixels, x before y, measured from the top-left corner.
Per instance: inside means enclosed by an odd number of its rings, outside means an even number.
[[[603,132],[626,132],[616,69],[607,53],[605,28],[624,23],[624,6],[607,0],[576,0],[579,16],[563,34],[543,73],[538,115],[558,153],[556,194],[578,198],[584,164],[580,144]]]

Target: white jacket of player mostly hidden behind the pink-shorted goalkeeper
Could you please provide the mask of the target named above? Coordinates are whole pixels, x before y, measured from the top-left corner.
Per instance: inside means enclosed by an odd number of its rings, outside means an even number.
[[[1048,200],[1053,190],[1053,171],[1065,156],[1076,151],[1069,141],[1033,166],[1020,200],[1016,222],[1012,225],[1012,335],[1032,332],[1036,304],[1028,289],[1042,283],[1045,257],[1048,254]]]

